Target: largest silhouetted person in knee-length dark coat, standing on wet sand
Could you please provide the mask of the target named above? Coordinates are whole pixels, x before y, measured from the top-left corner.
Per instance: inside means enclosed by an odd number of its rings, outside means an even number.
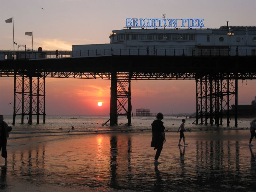
[[[164,123],[162,121],[164,119],[164,116],[162,113],[158,113],[156,116],[156,120],[153,121],[152,125],[152,140],[150,147],[154,147],[154,150],[156,150],[155,155],[155,164],[160,164],[158,162],[158,158],[161,154],[161,151],[163,149],[163,145],[165,140],[165,134],[164,134]]]

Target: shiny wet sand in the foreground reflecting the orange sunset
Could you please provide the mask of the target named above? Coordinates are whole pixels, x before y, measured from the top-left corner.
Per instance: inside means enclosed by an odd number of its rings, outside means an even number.
[[[248,147],[249,130],[185,132],[186,147],[178,147],[179,133],[165,135],[158,166],[150,132],[9,138],[0,189],[256,191],[256,141]]]

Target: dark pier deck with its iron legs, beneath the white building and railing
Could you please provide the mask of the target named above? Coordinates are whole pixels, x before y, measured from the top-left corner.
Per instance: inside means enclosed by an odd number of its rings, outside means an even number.
[[[109,79],[111,84],[110,125],[118,115],[131,124],[131,81],[193,80],[196,83],[196,123],[229,125],[229,103],[238,103],[238,81],[256,80],[255,56],[145,56],[111,55],[50,59],[2,60],[1,77],[14,78],[13,124],[17,115],[43,116],[45,123],[45,82],[47,78]],[[22,87],[16,91],[16,87]],[[36,106],[36,107],[34,107]],[[124,110],[125,112],[121,112]],[[237,112],[235,119],[237,126]]]

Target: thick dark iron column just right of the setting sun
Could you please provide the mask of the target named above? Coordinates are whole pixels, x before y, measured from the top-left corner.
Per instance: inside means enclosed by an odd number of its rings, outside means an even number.
[[[117,124],[117,77],[116,72],[111,72],[110,87],[110,125]]]

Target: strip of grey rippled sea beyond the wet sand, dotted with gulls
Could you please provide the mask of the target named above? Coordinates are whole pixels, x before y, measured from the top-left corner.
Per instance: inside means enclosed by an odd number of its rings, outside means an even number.
[[[40,118],[41,117],[41,118]],[[36,123],[36,116],[32,116],[32,124],[28,124],[28,117],[25,116],[24,123],[21,124],[21,116],[16,116],[15,124],[12,125],[13,116],[4,116],[4,121],[12,126],[10,134],[26,133],[67,133],[90,134],[95,132],[151,132],[151,124],[156,119],[154,116],[133,116],[131,125],[128,125],[127,116],[118,116],[118,124],[109,125],[109,116],[46,116],[45,124],[42,116],[39,117],[39,124]],[[251,118],[241,118],[237,120],[238,126],[235,127],[235,119],[230,119],[227,126],[227,119],[223,119],[222,125],[216,124],[196,124],[195,118],[188,116],[164,116],[163,122],[165,132],[175,132],[178,130],[182,119],[186,120],[186,131],[209,131],[209,130],[237,130],[250,128]],[[200,123],[200,120],[199,120]],[[215,123],[215,121],[214,121]],[[31,135],[30,135],[31,137]]]

